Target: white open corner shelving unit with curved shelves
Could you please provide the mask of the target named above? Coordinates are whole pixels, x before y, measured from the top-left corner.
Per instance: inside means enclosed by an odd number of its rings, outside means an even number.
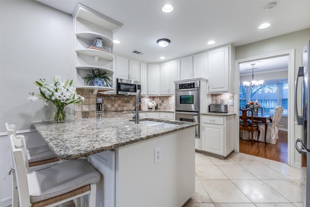
[[[78,4],[73,16],[76,88],[92,89],[93,94],[113,91],[113,85],[93,86],[92,83],[85,84],[84,78],[90,74],[90,69],[106,71],[113,76],[113,32],[123,24],[81,4]],[[95,45],[96,39],[102,40],[103,48],[89,48]]]

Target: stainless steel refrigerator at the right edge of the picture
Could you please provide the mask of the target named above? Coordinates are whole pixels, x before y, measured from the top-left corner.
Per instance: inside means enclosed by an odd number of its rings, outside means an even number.
[[[310,119],[310,40],[307,42],[302,51],[302,66],[298,68],[298,74],[295,80],[295,116],[297,124],[302,126],[301,138],[295,142],[296,150],[302,154],[302,172],[303,172],[303,202],[307,207],[310,207],[310,131],[308,119]],[[301,99],[297,100],[297,87],[300,86]],[[300,108],[297,106],[301,106]],[[299,110],[298,110],[299,108]],[[299,144],[300,143],[300,144]]]

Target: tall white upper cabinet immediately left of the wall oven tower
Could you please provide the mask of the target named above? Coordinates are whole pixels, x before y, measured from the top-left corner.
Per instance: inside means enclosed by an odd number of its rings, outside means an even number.
[[[160,66],[161,95],[173,95],[175,92],[174,81],[179,80],[180,60],[163,63]]]

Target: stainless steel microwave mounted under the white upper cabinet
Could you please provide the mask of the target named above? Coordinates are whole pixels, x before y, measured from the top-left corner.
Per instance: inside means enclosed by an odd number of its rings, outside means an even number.
[[[116,92],[118,95],[136,95],[141,90],[141,82],[136,80],[116,79]]]

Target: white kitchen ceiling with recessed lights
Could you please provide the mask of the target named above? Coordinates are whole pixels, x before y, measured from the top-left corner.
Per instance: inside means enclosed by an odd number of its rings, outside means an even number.
[[[230,44],[240,46],[289,32],[310,28],[310,0],[37,0],[72,14],[78,3],[123,23],[114,33],[113,52],[147,63],[159,63]],[[163,13],[162,5],[174,10]],[[259,30],[269,22],[271,26]],[[161,48],[160,38],[171,44]],[[209,40],[216,44],[207,45]],[[132,53],[139,50],[145,54]],[[160,60],[159,57],[166,57]],[[251,65],[249,65],[251,66]],[[261,68],[261,67],[260,67]]]

